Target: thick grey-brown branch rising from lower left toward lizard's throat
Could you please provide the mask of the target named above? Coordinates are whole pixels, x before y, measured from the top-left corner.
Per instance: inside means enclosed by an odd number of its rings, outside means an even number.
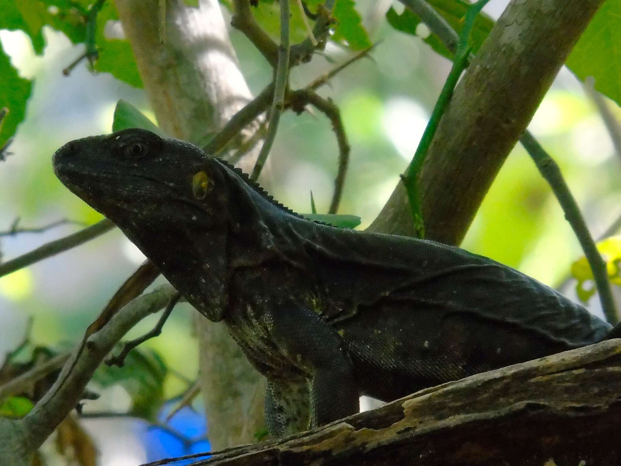
[[[32,449],[38,448],[78,403],[86,384],[114,345],[135,324],[166,306],[175,293],[176,290],[171,285],[161,285],[151,293],[139,296],[126,304],[102,329],[89,337],[86,349],[81,352],[74,370],[66,378],[66,383],[59,387],[61,381],[65,380],[71,361],[65,363],[52,388],[35,404],[30,413],[19,421],[24,432],[28,433],[27,440]],[[79,350],[78,347],[75,351]]]

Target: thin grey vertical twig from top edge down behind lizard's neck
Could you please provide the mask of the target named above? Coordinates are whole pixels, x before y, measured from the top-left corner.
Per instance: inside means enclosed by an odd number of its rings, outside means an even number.
[[[278,67],[274,78],[274,99],[270,112],[270,123],[268,126],[263,146],[256,159],[255,168],[252,170],[250,178],[256,180],[263,170],[265,161],[270,155],[272,144],[276,138],[278,122],[284,107],[284,93],[287,88],[289,78],[289,2],[280,2],[280,44],[278,45]]]

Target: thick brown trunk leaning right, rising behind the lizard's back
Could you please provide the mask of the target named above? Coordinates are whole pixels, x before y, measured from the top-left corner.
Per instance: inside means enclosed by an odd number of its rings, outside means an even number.
[[[420,175],[428,239],[458,245],[603,0],[512,0],[455,89]],[[399,183],[369,231],[413,235]]]

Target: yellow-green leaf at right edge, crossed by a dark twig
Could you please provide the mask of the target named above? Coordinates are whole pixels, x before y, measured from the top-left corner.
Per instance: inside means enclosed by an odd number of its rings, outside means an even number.
[[[597,243],[597,250],[601,253],[606,263],[606,271],[610,283],[621,286],[621,274],[619,262],[621,262],[621,236],[611,236]],[[582,303],[591,299],[597,289],[594,283],[593,272],[586,257],[582,256],[571,264],[571,275],[578,280],[576,293]]]

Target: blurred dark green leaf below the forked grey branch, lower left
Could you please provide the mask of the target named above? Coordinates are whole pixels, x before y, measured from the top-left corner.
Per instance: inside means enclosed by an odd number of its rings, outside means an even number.
[[[123,367],[100,365],[93,380],[103,388],[121,385],[132,398],[130,414],[154,421],[164,401],[166,373],[168,368],[157,352],[136,348],[125,357]]]

